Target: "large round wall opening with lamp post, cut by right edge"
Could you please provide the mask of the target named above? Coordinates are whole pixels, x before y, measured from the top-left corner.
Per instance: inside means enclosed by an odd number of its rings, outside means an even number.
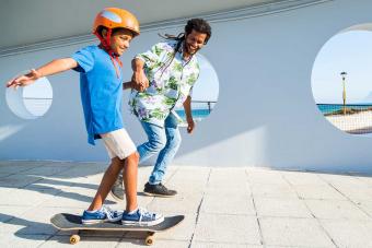
[[[318,52],[312,72],[315,103],[336,128],[372,133],[372,24],[347,28]]]

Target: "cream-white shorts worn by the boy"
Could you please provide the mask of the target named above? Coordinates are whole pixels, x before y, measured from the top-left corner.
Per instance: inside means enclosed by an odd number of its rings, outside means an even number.
[[[108,152],[109,158],[117,156],[120,160],[124,160],[137,151],[135,143],[124,128],[101,134],[101,138]]]

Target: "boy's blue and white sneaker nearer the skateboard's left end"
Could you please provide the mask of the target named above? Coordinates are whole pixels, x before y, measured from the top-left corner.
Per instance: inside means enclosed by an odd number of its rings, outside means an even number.
[[[94,212],[84,211],[81,217],[82,224],[97,224],[103,222],[117,222],[121,219],[123,212],[109,209],[107,205],[102,205],[100,210]]]

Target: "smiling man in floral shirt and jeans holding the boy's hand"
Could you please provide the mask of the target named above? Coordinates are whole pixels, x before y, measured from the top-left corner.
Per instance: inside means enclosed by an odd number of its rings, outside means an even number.
[[[167,165],[175,156],[181,133],[174,108],[185,109],[187,132],[195,123],[191,116],[191,90],[199,76],[199,63],[195,56],[209,40],[210,25],[202,19],[191,19],[185,33],[167,36],[163,43],[139,54],[132,60],[131,97],[129,105],[148,135],[148,141],[137,151],[140,163],[159,154],[143,192],[148,196],[173,197],[177,192],[167,189],[163,177]],[[112,189],[116,199],[123,199],[123,179],[118,178]]]

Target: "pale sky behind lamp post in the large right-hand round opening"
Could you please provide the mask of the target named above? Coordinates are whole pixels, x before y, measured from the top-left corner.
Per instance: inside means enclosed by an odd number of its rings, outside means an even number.
[[[348,73],[346,104],[372,103],[372,32],[339,33],[323,46],[312,72],[317,104],[342,103],[342,71]]]

